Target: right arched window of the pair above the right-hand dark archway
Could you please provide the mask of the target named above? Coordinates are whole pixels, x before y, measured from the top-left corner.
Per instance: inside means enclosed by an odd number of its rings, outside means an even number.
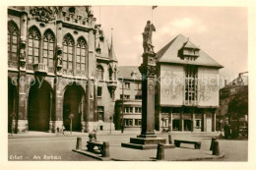
[[[77,70],[86,71],[87,42],[81,37],[77,44]]]

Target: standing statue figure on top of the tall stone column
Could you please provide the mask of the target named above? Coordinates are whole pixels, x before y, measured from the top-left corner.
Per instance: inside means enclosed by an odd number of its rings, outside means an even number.
[[[151,21],[148,21],[146,27],[144,28],[144,32],[142,33],[144,53],[155,53],[154,45],[152,44],[153,31],[156,31],[156,28],[153,24],[151,24]]]

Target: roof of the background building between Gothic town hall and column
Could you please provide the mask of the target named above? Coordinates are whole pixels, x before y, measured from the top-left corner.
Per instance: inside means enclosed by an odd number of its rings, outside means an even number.
[[[141,81],[142,75],[139,66],[119,66],[117,72],[118,79]]]

